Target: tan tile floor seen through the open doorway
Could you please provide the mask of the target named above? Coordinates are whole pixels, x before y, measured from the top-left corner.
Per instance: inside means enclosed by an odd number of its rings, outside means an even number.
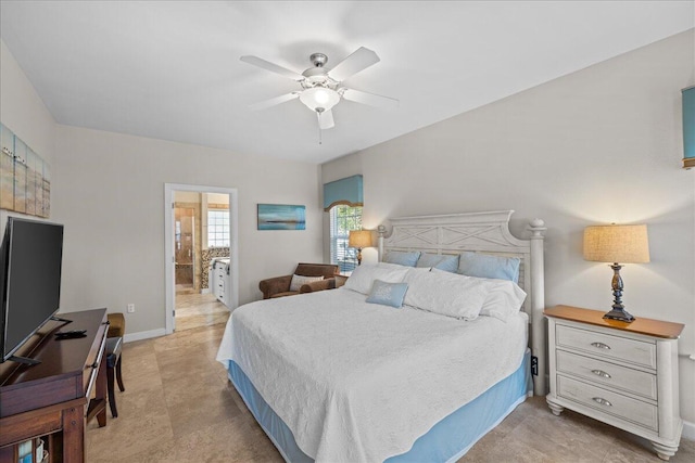
[[[176,293],[176,331],[225,323],[229,309],[212,294]]]

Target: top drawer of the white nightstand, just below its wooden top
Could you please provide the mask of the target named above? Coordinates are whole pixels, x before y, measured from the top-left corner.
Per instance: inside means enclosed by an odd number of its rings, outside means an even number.
[[[555,339],[557,346],[656,369],[656,344],[653,343],[559,324],[556,326]]]

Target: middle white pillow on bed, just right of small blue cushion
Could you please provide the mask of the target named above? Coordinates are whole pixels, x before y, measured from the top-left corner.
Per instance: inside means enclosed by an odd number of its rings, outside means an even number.
[[[403,281],[408,284],[403,304],[462,320],[478,318],[491,287],[482,279],[437,269],[413,269]]]

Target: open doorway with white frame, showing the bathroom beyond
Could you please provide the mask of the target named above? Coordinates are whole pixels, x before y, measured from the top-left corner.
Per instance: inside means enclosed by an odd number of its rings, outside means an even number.
[[[222,323],[238,306],[237,190],[166,183],[166,333]]]

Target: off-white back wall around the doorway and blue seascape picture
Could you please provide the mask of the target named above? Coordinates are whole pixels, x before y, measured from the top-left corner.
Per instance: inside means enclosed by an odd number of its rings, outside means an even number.
[[[64,308],[125,311],[128,332],[165,325],[164,183],[239,192],[239,299],[321,260],[316,166],[58,126],[54,217],[65,224]],[[256,204],[306,205],[305,231],[257,231]]]

